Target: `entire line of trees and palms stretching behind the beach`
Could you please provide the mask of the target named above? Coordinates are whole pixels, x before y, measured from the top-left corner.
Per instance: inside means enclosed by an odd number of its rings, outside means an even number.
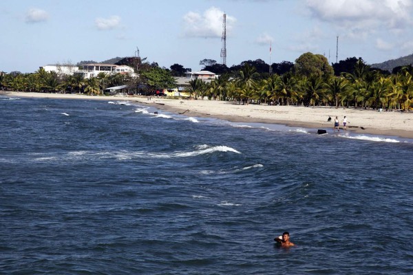
[[[121,64],[134,67],[137,78],[100,73],[94,78],[58,75],[39,69],[32,74],[11,72],[0,75],[0,88],[9,91],[71,92],[102,94],[105,87],[128,85],[133,94],[153,89],[175,88],[173,76],[188,69],[173,64],[170,69],[146,58],[125,58]],[[346,58],[328,64],[325,56],[307,52],[295,60],[270,66],[264,61],[244,61],[228,68],[211,59],[200,61],[204,70],[219,74],[207,83],[189,81],[187,91],[195,99],[236,100],[249,104],[328,105],[410,110],[413,105],[413,67],[396,67],[393,72],[366,65],[362,58]],[[271,73],[272,72],[272,73]]]

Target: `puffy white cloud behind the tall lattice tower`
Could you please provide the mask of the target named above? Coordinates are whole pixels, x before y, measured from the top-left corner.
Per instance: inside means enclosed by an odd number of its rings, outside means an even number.
[[[188,12],[183,17],[184,36],[203,38],[221,37],[223,14],[224,12],[215,7],[209,8],[204,14]],[[226,14],[226,34],[231,32],[235,21],[235,17]]]

